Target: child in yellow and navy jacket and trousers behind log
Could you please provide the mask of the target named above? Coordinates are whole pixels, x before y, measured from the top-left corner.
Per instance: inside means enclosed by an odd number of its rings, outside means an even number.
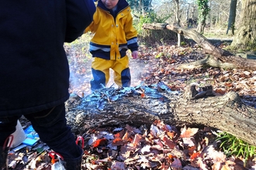
[[[109,81],[109,69],[114,70],[114,81],[119,87],[130,87],[129,58],[126,50],[138,57],[137,30],[133,28],[130,5],[126,0],[99,0],[93,22],[85,32],[92,32],[91,89],[105,87]],[[102,85],[101,85],[102,84]]]

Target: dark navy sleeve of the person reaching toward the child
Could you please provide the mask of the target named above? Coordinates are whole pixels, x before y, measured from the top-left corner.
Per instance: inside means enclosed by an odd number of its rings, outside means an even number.
[[[92,22],[95,4],[92,0],[67,0],[67,28],[65,42],[72,42],[81,36]]]

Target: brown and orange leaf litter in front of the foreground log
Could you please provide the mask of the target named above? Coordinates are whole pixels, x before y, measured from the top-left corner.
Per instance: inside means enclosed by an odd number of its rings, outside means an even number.
[[[129,124],[89,129],[81,134],[85,139],[82,169],[249,169],[239,164],[242,159],[227,158],[218,151],[215,133],[212,128],[178,130],[162,121],[154,121],[150,129]],[[38,148],[43,148],[40,154]],[[28,149],[10,155],[16,165],[26,168],[14,168],[11,162],[10,169],[50,169],[50,149],[46,145],[39,142]],[[254,163],[251,161],[250,169],[254,169]]]

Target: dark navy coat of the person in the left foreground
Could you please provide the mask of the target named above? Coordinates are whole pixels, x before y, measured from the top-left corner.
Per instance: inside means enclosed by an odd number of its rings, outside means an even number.
[[[63,45],[81,36],[94,12],[92,0],[1,0],[1,117],[67,100],[69,66]]]

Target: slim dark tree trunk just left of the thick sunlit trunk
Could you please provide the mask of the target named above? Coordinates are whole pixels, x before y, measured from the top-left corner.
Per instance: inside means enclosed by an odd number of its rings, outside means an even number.
[[[231,0],[230,2],[230,16],[228,19],[227,24],[227,34],[228,31],[231,29],[232,35],[234,36],[234,29],[235,29],[235,21],[236,21],[236,13],[237,13],[237,0]]]

